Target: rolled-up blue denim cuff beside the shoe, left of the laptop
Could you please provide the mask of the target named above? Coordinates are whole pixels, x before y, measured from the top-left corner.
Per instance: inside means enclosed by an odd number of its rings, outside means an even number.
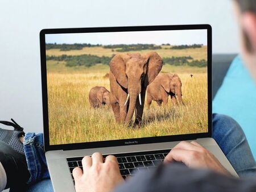
[[[49,172],[44,155],[43,133],[26,133],[24,137],[24,152],[27,159],[30,179],[28,184],[49,178]]]

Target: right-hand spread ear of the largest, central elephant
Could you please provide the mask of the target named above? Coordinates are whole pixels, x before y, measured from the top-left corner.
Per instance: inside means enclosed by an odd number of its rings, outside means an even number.
[[[163,60],[156,52],[147,53],[145,56],[148,62],[147,73],[144,79],[144,86],[146,87],[158,76],[163,66]]]

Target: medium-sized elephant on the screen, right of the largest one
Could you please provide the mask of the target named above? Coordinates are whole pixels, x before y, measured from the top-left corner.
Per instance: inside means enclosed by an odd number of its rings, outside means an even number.
[[[150,108],[151,102],[156,101],[159,106],[168,103],[168,96],[171,96],[171,101],[177,105],[177,99],[184,105],[182,100],[180,77],[175,73],[159,73],[155,80],[147,87],[147,107]]]

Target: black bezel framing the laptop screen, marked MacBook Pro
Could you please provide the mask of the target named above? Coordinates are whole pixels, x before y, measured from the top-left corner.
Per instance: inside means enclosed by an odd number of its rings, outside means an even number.
[[[49,144],[46,41],[45,41],[46,34],[69,34],[69,33],[75,34],[75,33],[88,33],[88,32],[125,32],[125,31],[166,31],[166,30],[207,30],[208,132],[191,133],[191,134],[184,134],[184,135],[119,139],[119,140],[108,140],[108,141],[93,141],[93,142],[87,142],[87,143],[71,143],[71,144],[59,144],[59,145]],[[114,147],[114,146],[131,145],[131,144],[162,143],[162,142],[179,141],[179,140],[193,140],[193,139],[198,139],[203,137],[212,137],[212,27],[209,24],[179,25],[179,26],[133,26],[133,27],[44,29],[40,31],[40,56],[41,56],[43,127],[44,127],[45,151]]]

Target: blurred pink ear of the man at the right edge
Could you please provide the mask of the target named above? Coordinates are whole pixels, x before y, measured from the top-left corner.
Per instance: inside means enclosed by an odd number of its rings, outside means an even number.
[[[256,52],[256,14],[254,12],[244,12],[242,14],[242,27],[249,41],[247,48],[252,49],[248,51]]]

